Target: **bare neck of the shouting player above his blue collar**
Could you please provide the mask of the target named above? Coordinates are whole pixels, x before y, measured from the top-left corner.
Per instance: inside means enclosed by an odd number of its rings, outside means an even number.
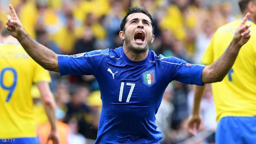
[[[126,56],[131,61],[143,61],[144,59],[147,58],[147,55],[148,55],[148,50],[146,50],[145,52],[141,52],[141,53],[135,53],[125,46],[123,46],[123,52],[126,54]]]

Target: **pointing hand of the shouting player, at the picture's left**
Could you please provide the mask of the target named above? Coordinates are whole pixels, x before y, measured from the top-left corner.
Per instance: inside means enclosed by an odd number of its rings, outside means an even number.
[[[17,40],[22,40],[26,36],[26,32],[24,31],[21,21],[19,20],[12,5],[9,5],[9,9],[12,16],[6,16],[6,19],[8,20],[6,22],[6,29],[14,38],[17,38]]]

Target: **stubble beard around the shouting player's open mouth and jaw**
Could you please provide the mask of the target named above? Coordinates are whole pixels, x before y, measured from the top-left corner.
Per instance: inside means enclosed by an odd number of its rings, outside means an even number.
[[[124,31],[125,33],[125,31]],[[133,43],[132,41],[134,40],[134,35],[132,36],[126,36],[124,35],[125,39],[124,39],[124,42],[125,42],[125,47],[134,52],[135,54],[141,54],[141,53],[144,53],[146,52],[148,49],[149,49],[149,45],[151,44],[151,41],[152,41],[152,38],[153,38],[153,35],[150,35],[149,37],[150,38],[147,38],[147,35],[145,35],[145,41],[146,41],[146,45],[137,45],[135,43]]]

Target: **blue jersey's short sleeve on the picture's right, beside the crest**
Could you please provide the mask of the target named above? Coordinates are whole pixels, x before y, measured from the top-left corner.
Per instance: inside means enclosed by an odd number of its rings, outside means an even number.
[[[164,57],[161,61],[163,62],[161,67],[169,82],[177,80],[185,84],[204,85],[201,80],[203,65],[189,64],[176,57]]]

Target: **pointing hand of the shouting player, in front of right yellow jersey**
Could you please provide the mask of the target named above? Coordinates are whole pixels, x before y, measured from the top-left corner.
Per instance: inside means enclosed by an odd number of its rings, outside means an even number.
[[[233,41],[237,45],[239,45],[239,47],[242,47],[244,44],[246,44],[246,42],[248,42],[248,40],[251,37],[251,35],[250,35],[251,31],[249,29],[251,24],[246,24],[249,16],[250,16],[250,13],[247,13],[244,16],[242,23],[238,26],[237,30],[235,31],[234,37],[233,37]]]

